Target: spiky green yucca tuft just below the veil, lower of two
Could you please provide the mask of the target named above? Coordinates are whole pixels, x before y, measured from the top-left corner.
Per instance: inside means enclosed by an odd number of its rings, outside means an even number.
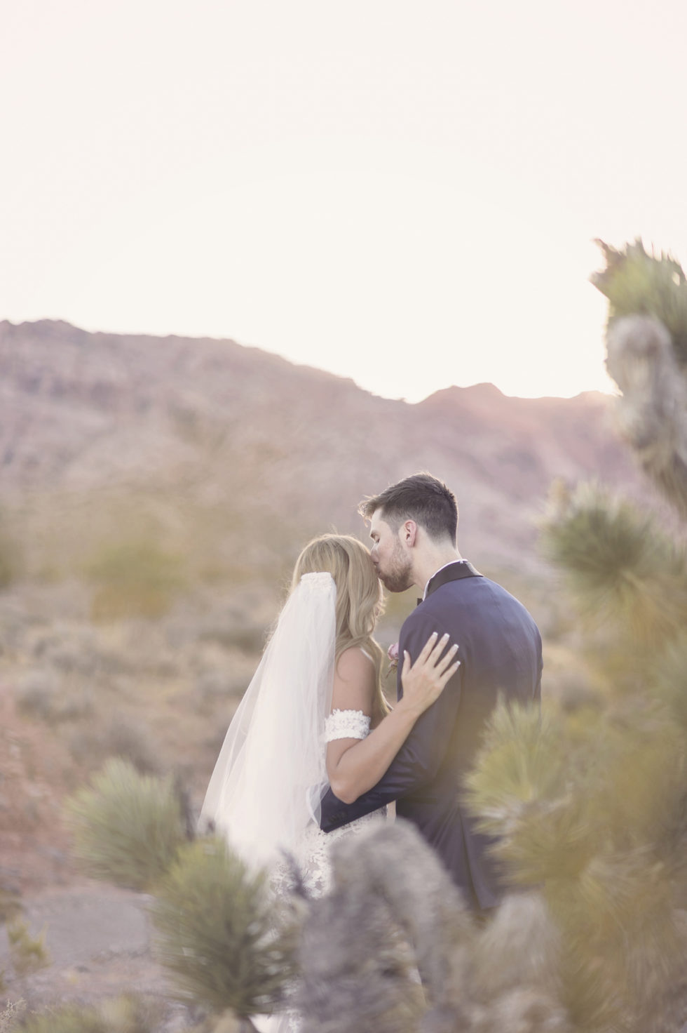
[[[157,952],[182,994],[211,1011],[270,1011],[293,976],[293,931],[275,929],[264,873],[227,844],[198,840],[179,852],[151,908]]]

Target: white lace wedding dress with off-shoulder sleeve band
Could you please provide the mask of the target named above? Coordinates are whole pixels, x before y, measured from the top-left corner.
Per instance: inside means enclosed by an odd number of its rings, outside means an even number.
[[[334,710],[325,721],[325,742],[335,739],[365,739],[370,730],[370,719],[362,711]],[[386,808],[365,814],[348,825],[341,825],[331,833],[323,833],[313,820],[301,841],[293,851],[299,874],[308,896],[322,897],[330,887],[331,866],[329,850],[336,840],[352,836],[368,826],[371,821],[386,819]],[[271,874],[271,884],[277,896],[286,895],[293,888],[293,874],[290,866],[277,865]],[[254,1019],[260,1033],[300,1033],[301,1021],[296,1011],[285,1011],[270,1018]]]

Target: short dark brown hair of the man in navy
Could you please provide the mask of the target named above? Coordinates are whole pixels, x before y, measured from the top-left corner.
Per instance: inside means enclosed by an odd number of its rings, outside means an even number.
[[[458,505],[456,496],[431,473],[414,473],[379,495],[363,499],[358,512],[365,520],[382,510],[383,519],[395,531],[404,520],[414,520],[434,539],[456,541]]]

